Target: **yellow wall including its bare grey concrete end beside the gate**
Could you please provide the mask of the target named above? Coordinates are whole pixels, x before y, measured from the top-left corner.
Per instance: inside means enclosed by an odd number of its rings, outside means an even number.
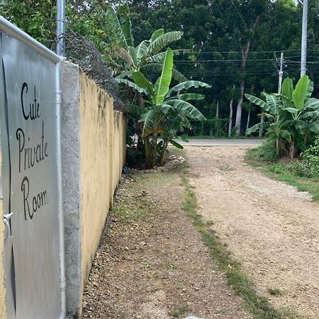
[[[125,162],[125,116],[77,67],[62,67],[67,313],[82,293]]]

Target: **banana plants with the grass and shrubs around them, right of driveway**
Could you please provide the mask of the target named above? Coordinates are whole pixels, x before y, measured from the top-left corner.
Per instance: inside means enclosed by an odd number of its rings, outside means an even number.
[[[266,101],[245,94],[260,106],[267,121],[247,130],[266,130],[264,145],[250,150],[247,159],[270,177],[308,191],[319,201],[319,100],[311,98],[313,82],[307,75],[293,87],[284,80],[281,94],[263,93]]]

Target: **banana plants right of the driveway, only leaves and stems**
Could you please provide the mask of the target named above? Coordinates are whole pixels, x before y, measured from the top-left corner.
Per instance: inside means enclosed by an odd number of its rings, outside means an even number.
[[[252,103],[260,106],[268,118],[267,122],[259,123],[247,130],[251,134],[263,127],[267,130],[267,136],[274,139],[276,153],[282,152],[280,140],[289,142],[289,155],[304,150],[308,137],[319,133],[319,100],[310,98],[313,93],[313,82],[307,75],[299,79],[296,88],[293,82],[287,78],[281,87],[281,94],[264,94],[266,102],[262,99],[245,94]]]

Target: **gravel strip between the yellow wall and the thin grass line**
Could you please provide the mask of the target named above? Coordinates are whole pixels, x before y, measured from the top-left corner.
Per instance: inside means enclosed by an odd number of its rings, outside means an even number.
[[[181,211],[176,171],[118,192],[84,292],[84,318],[251,319]]]

